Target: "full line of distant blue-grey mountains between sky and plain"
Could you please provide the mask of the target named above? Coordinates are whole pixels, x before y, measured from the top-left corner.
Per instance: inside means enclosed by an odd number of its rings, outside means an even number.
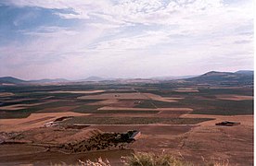
[[[181,80],[192,84],[208,84],[221,86],[249,86],[253,87],[254,72],[251,70],[239,70],[232,72],[211,71],[198,77],[151,77],[151,78],[105,78],[105,77],[87,77],[81,80],[57,79],[39,79],[39,80],[22,80],[16,77],[0,77],[0,85],[24,85],[24,84],[74,84],[74,83],[94,83],[101,82],[106,84],[125,84],[125,83],[159,83],[164,81]]]

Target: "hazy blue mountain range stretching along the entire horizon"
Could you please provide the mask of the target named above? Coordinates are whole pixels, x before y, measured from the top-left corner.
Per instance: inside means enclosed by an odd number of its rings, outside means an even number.
[[[165,81],[165,80],[186,80],[194,81],[198,83],[220,83],[228,84],[229,82],[247,82],[249,84],[253,83],[253,70],[238,70],[237,72],[220,72],[220,71],[210,71],[199,76],[184,76],[184,77],[149,77],[149,78],[105,78],[105,77],[87,77],[85,79],[79,80],[68,80],[65,78],[45,78],[45,79],[36,79],[36,80],[22,80],[17,77],[0,77],[0,85],[2,84],[47,84],[47,83],[74,83],[74,82],[104,82],[104,81],[125,81],[136,80],[143,82],[143,80],[152,80],[152,81]]]

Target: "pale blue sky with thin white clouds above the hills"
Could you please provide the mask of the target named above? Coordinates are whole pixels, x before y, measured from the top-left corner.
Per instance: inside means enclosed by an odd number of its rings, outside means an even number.
[[[253,69],[253,0],[0,0],[0,77]]]

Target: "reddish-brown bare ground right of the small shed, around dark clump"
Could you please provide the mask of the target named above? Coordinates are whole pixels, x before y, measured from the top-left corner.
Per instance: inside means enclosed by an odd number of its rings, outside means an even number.
[[[155,152],[165,150],[174,156],[182,155],[185,160],[193,160],[195,163],[206,162],[203,161],[204,159],[208,161],[228,160],[231,165],[253,165],[253,115],[186,114],[182,117],[216,117],[216,120],[194,125],[184,134],[168,135],[165,131],[166,136],[160,133],[150,136],[144,133],[144,136],[134,143],[134,150]],[[240,122],[241,125],[215,125],[216,122],[224,120]]]

